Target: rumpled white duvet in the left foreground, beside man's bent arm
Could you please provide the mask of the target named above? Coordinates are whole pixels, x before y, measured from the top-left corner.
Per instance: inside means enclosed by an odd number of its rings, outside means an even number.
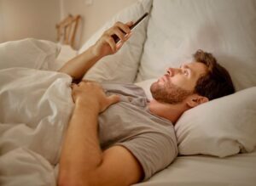
[[[0,183],[55,185],[54,168],[73,110],[71,77],[53,71],[0,70]]]

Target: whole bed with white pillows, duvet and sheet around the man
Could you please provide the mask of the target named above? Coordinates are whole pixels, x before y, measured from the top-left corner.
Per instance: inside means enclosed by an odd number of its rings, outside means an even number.
[[[55,71],[114,22],[144,12],[148,20],[119,53],[101,59],[84,79],[136,83],[150,98],[155,78],[201,48],[230,71],[236,93],[186,111],[175,125],[177,159],[135,185],[256,185],[255,0],[140,0],[78,51],[32,38],[0,44],[1,185],[56,185],[73,101],[71,78]]]

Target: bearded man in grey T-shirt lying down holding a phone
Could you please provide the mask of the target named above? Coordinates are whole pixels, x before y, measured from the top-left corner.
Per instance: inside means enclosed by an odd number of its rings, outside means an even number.
[[[130,25],[116,23],[60,71],[81,79],[96,61],[122,47],[131,37]],[[121,40],[118,45],[113,34]],[[131,185],[170,165],[177,156],[172,124],[185,110],[234,93],[230,75],[212,54],[199,50],[194,59],[169,68],[152,84],[154,99],[149,101],[133,85],[73,84],[75,107],[61,151],[58,184]]]

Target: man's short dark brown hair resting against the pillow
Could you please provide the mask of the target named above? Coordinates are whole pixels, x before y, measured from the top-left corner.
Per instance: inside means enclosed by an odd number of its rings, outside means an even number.
[[[207,65],[207,74],[201,76],[195,85],[195,93],[209,100],[235,93],[229,72],[217,63],[212,54],[197,50],[193,55],[196,62]]]

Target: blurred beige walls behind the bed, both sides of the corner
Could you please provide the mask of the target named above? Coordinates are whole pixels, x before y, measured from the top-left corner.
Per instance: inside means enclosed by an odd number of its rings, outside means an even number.
[[[56,42],[56,24],[81,16],[74,48],[121,9],[137,0],[0,0],[0,43],[34,37]]]

